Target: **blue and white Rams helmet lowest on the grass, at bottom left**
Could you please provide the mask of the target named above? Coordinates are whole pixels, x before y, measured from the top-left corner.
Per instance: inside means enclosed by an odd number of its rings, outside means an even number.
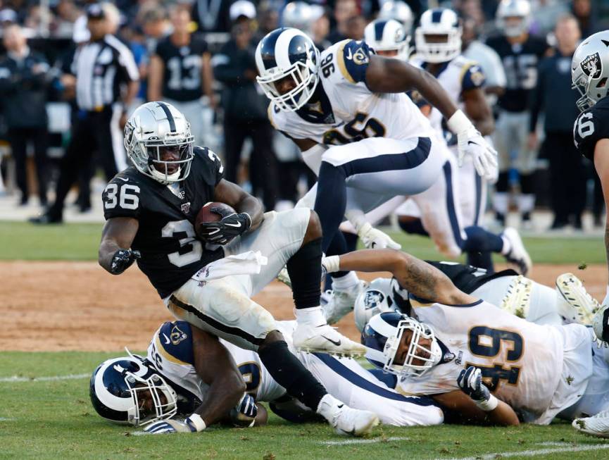
[[[143,392],[154,407],[146,414]],[[148,425],[177,412],[177,394],[165,379],[139,356],[130,354],[103,361],[91,376],[89,396],[97,414],[114,423]]]

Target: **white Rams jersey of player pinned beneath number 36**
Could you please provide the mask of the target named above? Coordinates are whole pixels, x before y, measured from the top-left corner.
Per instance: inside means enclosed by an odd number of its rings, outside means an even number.
[[[277,323],[284,337],[291,337],[294,327],[292,323],[295,322]],[[203,383],[194,368],[191,335],[190,325],[185,321],[163,323],[152,337],[147,358],[168,380],[203,401],[208,385]],[[256,352],[241,349],[226,340],[220,339],[220,342],[237,363],[246,383],[246,392],[256,401],[273,401],[285,394],[284,387],[272,379]]]

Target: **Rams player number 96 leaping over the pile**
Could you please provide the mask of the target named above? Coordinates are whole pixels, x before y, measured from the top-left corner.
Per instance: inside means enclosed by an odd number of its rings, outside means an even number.
[[[344,217],[366,246],[399,247],[364,213],[396,195],[425,191],[442,173],[446,151],[406,91],[417,89],[439,108],[458,135],[460,156],[473,156],[481,175],[494,168],[496,152],[434,77],[375,56],[365,42],[347,39],[319,54],[303,32],[277,29],[260,40],[256,65],[258,83],[271,100],[271,122],[318,174],[302,204],[320,216],[327,254],[346,251],[337,232]],[[333,286],[338,292],[360,289],[348,273],[335,274]]]

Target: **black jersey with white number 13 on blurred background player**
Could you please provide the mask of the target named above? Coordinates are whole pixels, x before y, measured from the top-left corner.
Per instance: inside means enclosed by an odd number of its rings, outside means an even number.
[[[201,55],[207,43],[192,36],[187,46],[175,46],[170,37],[156,45],[156,54],[165,64],[163,97],[175,101],[192,101],[201,97]]]

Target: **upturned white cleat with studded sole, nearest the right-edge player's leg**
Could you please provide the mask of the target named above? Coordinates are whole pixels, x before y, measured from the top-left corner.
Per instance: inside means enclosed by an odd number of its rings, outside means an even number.
[[[601,309],[594,297],[586,291],[583,283],[572,273],[563,273],[556,278],[556,293],[564,302],[558,302],[558,314],[573,323],[589,326],[594,313]]]

